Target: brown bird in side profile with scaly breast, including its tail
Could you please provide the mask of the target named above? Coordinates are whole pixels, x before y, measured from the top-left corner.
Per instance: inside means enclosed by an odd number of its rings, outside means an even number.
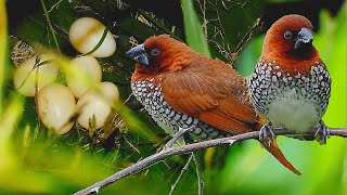
[[[189,129],[196,140],[259,130],[247,81],[230,65],[209,58],[167,35],[151,37],[127,52],[137,61],[131,78],[134,96],[167,132]],[[285,167],[275,142],[264,144]]]

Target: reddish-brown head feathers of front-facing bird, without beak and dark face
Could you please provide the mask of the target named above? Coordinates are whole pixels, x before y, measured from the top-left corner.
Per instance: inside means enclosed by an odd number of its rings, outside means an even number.
[[[321,62],[316,48],[309,47],[306,51],[296,51],[294,50],[296,40],[284,38],[286,31],[294,37],[296,36],[294,34],[298,34],[301,28],[313,30],[311,22],[301,15],[291,14],[277,21],[267,31],[260,58],[270,63],[275,61],[277,63],[272,65],[279,65],[288,73],[308,74],[316,62]]]

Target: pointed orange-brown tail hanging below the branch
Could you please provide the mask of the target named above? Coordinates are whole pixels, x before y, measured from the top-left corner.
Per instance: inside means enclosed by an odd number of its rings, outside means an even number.
[[[287,169],[290,169],[291,171],[293,171],[295,174],[297,176],[301,176],[301,172],[298,171],[283,155],[283,153],[281,152],[280,147],[278,146],[275,140],[273,138],[268,138],[271,139],[271,145],[268,146],[265,143],[261,143],[265,148],[271,153],[284,167],[286,167]]]

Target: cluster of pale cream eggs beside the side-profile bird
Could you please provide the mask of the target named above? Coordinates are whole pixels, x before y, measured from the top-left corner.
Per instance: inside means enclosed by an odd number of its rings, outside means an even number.
[[[69,40],[82,53],[68,63],[69,67],[61,68],[54,54],[40,54],[23,62],[13,75],[15,89],[22,95],[36,96],[40,120],[57,134],[68,132],[76,118],[90,131],[102,128],[119,102],[118,88],[101,82],[102,68],[95,60],[115,52],[113,35],[101,22],[81,17],[70,26]],[[55,82],[60,69],[65,74],[66,86]]]

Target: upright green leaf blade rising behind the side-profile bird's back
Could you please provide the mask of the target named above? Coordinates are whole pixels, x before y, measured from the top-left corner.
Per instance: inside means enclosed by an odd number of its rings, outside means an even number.
[[[206,36],[203,32],[202,25],[194,11],[193,1],[181,0],[181,4],[183,12],[184,34],[188,46],[196,52],[210,56]]]

